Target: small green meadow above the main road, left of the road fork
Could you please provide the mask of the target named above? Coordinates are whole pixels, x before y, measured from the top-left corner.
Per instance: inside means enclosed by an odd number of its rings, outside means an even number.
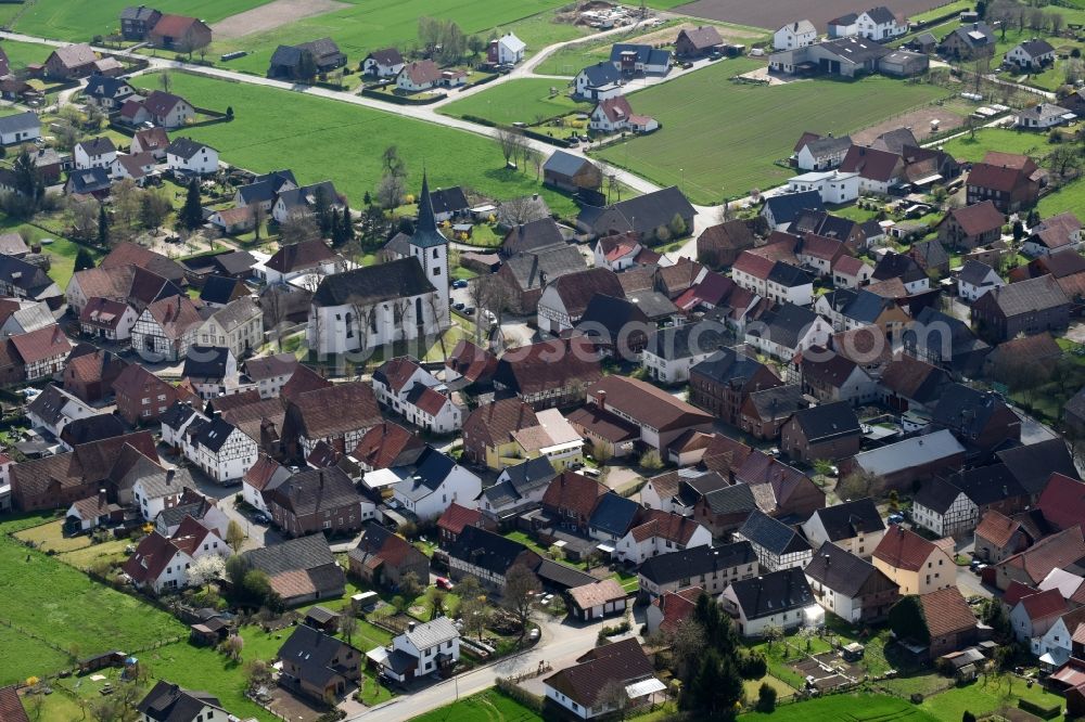
[[[577,103],[569,96],[564,81],[547,78],[510,80],[441,108],[444,115],[458,118],[473,115],[501,125],[538,124],[559,115],[590,111],[589,103]]]

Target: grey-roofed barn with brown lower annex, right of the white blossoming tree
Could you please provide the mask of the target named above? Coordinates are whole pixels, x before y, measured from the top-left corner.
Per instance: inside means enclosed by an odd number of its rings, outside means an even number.
[[[268,576],[271,589],[288,608],[343,595],[346,575],[335,562],[323,534],[289,539],[241,554],[250,569]]]

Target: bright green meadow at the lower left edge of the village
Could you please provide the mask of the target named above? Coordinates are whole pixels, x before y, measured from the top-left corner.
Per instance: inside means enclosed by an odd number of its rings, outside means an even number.
[[[166,613],[5,536],[0,537],[0,619],[76,657],[116,648],[135,652],[186,633]],[[12,653],[0,657],[0,683],[25,678],[24,647],[35,654],[40,646],[24,635],[14,644],[0,644]]]

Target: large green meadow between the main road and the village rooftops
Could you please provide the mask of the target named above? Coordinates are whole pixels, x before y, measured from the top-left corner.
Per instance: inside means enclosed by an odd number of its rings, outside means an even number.
[[[133,83],[156,88],[158,78],[140,76]],[[464,185],[497,198],[542,193],[554,212],[575,214],[571,199],[542,189],[534,173],[505,169],[497,143],[481,136],[286,90],[180,73],[174,74],[173,92],[196,105],[233,107],[232,123],[189,129],[226,162],[257,172],[291,168],[303,183],[331,179],[354,207],[375,190],[381,153],[396,145],[409,171],[409,189],[421,184],[424,164],[434,186]]]

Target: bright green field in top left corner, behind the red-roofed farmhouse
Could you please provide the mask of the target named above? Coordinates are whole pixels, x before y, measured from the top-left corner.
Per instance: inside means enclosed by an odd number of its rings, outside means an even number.
[[[266,2],[267,0],[156,0],[154,7],[164,13],[191,15],[215,23]],[[88,42],[95,35],[118,31],[120,11],[130,4],[129,0],[34,0],[24,5],[24,11],[15,18],[13,29],[44,38]]]

